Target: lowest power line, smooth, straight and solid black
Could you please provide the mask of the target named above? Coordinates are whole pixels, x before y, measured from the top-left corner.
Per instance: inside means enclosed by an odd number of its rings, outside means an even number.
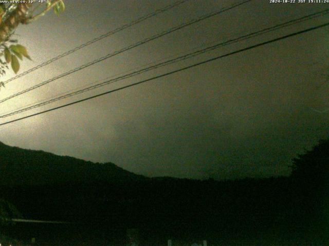
[[[154,76],[152,78],[148,78],[148,79],[138,81],[138,82],[136,82],[134,84],[131,84],[131,85],[123,86],[123,87],[120,87],[120,88],[117,88],[117,89],[114,89],[114,90],[111,90],[111,91],[103,92],[103,93],[100,93],[100,94],[97,94],[97,95],[94,95],[94,96],[90,96],[90,97],[87,97],[87,98],[84,98],[84,99],[80,99],[80,100],[74,101],[74,102],[69,103],[69,104],[61,105],[61,106],[51,108],[51,109],[48,109],[48,110],[45,110],[45,111],[42,111],[42,112],[39,112],[39,113],[35,113],[35,114],[27,115],[27,116],[24,116],[24,117],[21,117],[21,118],[18,118],[18,119],[10,120],[10,121],[7,121],[7,122],[4,122],[4,123],[0,124],[0,126],[7,125],[7,124],[10,124],[12,122],[23,120],[23,119],[26,119],[26,118],[30,118],[30,117],[33,117],[33,116],[36,116],[36,115],[44,114],[44,113],[47,113],[47,112],[50,112],[50,111],[53,111],[53,110],[61,109],[61,108],[64,108],[64,107],[67,107],[67,106],[70,106],[70,105],[78,104],[78,103],[81,103],[82,101],[86,101],[86,100],[93,99],[93,98],[96,98],[96,97],[99,97],[99,96],[102,96],[102,95],[106,95],[106,94],[109,94],[109,93],[120,91],[120,90],[129,88],[129,87],[137,86],[139,84],[142,84],[142,83],[145,83],[145,82],[157,79],[157,78],[165,77],[165,76],[168,76],[170,74],[174,74],[174,73],[184,71],[184,70],[187,70],[187,69],[199,66],[199,65],[209,63],[210,61],[214,61],[214,60],[226,57],[226,56],[230,56],[230,55],[234,55],[234,54],[237,54],[237,53],[240,53],[240,52],[243,52],[243,51],[254,49],[254,48],[257,48],[257,47],[260,47],[260,46],[263,46],[263,45],[267,45],[267,44],[270,44],[270,43],[273,43],[273,42],[277,42],[279,40],[282,40],[282,39],[285,39],[285,38],[288,38],[288,37],[296,36],[296,35],[299,35],[299,34],[302,34],[302,33],[305,33],[305,32],[309,32],[309,31],[313,31],[313,30],[316,30],[316,29],[319,29],[319,28],[322,28],[322,27],[326,27],[326,26],[329,26],[329,23],[325,23],[325,24],[318,25],[318,26],[315,26],[315,27],[312,27],[312,28],[304,29],[302,31],[294,32],[294,33],[291,33],[291,34],[288,34],[288,35],[285,35],[285,36],[281,36],[281,37],[278,37],[278,38],[274,38],[274,39],[268,40],[266,42],[259,43],[257,45],[252,45],[252,46],[249,46],[249,47],[244,48],[244,49],[240,49],[240,50],[237,50],[237,51],[227,53],[225,55],[216,56],[214,58],[207,59],[207,60],[201,61],[199,63],[195,63],[193,65],[190,65],[190,66],[187,66],[187,67],[184,67],[184,68],[176,69],[176,70],[173,70],[173,71],[168,72],[168,73],[164,73],[164,74],[161,74],[161,75]]]

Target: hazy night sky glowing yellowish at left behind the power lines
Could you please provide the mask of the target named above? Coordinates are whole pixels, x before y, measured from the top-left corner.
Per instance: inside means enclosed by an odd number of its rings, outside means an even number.
[[[16,31],[33,61],[20,72],[175,1],[65,1]],[[0,98],[138,40],[242,1],[190,0],[13,80]],[[1,105],[1,113],[165,58],[324,10],[329,4],[254,0],[53,81]],[[323,16],[58,101],[15,119],[207,58],[328,22]],[[227,179],[289,175],[291,158],[328,137],[328,28],[287,38],[148,83],[0,127],[0,141],[147,176]],[[10,71],[3,80],[14,74]]]

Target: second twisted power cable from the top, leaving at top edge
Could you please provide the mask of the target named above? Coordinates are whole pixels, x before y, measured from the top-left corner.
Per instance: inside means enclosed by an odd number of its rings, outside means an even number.
[[[71,73],[74,73],[74,72],[77,72],[77,71],[82,70],[82,69],[84,69],[84,68],[87,68],[87,67],[89,67],[89,66],[92,66],[92,65],[94,65],[94,64],[96,64],[96,63],[99,63],[99,62],[102,61],[102,60],[108,59],[108,58],[113,57],[113,56],[115,56],[115,55],[118,55],[118,54],[120,54],[120,53],[122,53],[122,52],[125,52],[125,51],[127,51],[127,50],[131,50],[131,49],[133,49],[133,48],[135,48],[135,47],[138,47],[138,46],[140,46],[140,45],[142,45],[142,44],[148,43],[148,42],[150,42],[150,41],[152,41],[152,40],[154,40],[154,39],[157,39],[157,38],[159,38],[159,37],[165,36],[165,35],[167,35],[167,34],[169,34],[169,33],[174,32],[174,31],[177,31],[177,30],[180,30],[180,29],[185,28],[185,27],[187,27],[187,26],[190,26],[190,25],[195,24],[195,23],[197,23],[197,22],[200,22],[200,21],[202,21],[202,20],[204,20],[204,19],[210,18],[210,17],[212,17],[212,16],[214,16],[214,15],[217,15],[217,14],[223,13],[223,12],[228,11],[228,10],[231,10],[231,9],[233,9],[233,8],[236,8],[236,7],[240,6],[240,5],[243,5],[243,4],[245,4],[245,3],[248,3],[248,2],[250,2],[250,1],[252,1],[252,0],[246,0],[246,1],[242,2],[242,3],[234,4],[234,5],[232,5],[232,6],[230,6],[230,7],[227,7],[227,8],[222,8],[222,9],[219,10],[219,11],[215,11],[215,12],[212,12],[212,13],[210,13],[210,14],[203,15],[203,16],[201,16],[201,17],[199,17],[199,18],[193,19],[193,20],[191,20],[191,21],[188,22],[188,23],[183,23],[183,24],[181,24],[181,25],[179,25],[179,26],[176,26],[176,27],[170,28],[170,29],[168,29],[168,30],[166,30],[166,31],[163,31],[163,32],[159,33],[159,34],[156,34],[156,35],[151,36],[151,37],[148,37],[148,38],[146,38],[146,39],[144,39],[144,40],[142,40],[142,41],[139,41],[139,42],[137,42],[137,43],[135,43],[135,44],[133,44],[133,45],[127,46],[127,47],[125,47],[125,48],[123,48],[123,49],[121,49],[121,50],[118,50],[118,51],[115,51],[115,52],[113,52],[113,53],[107,54],[107,55],[105,55],[105,56],[103,56],[103,57],[100,57],[100,58],[94,60],[94,61],[90,61],[89,63],[84,64],[84,65],[82,65],[82,66],[80,66],[80,67],[77,67],[77,68],[72,69],[72,70],[70,70],[70,71],[68,71],[68,72],[65,72],[65,73],[63,73],[63,74],[60,74],[60,75],[58,75],[58,76],[56,76],[56,77],[53,77],[53,78],[48,79],[48,80],[46,80],[46,81],[43,81],[42,83],[40,83],[40,84],[38,84],[38,85],[32,86],[32,87],[30,87],[30,88],[28,88],[28,89],[25,89],[25,90],[23,90],[23,91],[20,91],[20,92],[18,92],[18,93],[15,93],[15,94],[13,94],[13,95],[11,95],[11,96],[8,96],[8,97],[6,97],[6,98],[4,98],[4,99],[1,99],[1,100],[0,100],[0,103],[3,103],[4,101],[7,101],[7,100],[9,100],[9,99],[11,99],[11,98],[13,98],[13,97],[16,97],[16,96],[22,95],[22,94],[24,94],[24,93],[26,93],[26,92],[29,92],[29,91],[34,90],[34,89],[36,89],[36,88],[39,88],[39,87],[41,87],[41,86],[44,86],[44,85],[46,85],[46,84],[48,84],[48,83],[50,83],[50,82],[52,82],[52,81],[54,81],[54,80],[56,80],[56,79],[62,78],[62,77],[64,77],[64,76],[66,76],[66,75],[69,75],[69,74],[71,74]]]

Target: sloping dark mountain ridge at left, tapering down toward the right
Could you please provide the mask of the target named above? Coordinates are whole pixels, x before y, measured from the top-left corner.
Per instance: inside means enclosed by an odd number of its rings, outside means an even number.
[[[0,185],[59,185],[148,179],[112,162],[92,162],[42,150],[11,147],[0,141]]]

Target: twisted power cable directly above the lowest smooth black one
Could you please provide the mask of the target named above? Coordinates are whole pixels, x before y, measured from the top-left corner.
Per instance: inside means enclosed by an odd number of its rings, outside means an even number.
[[[249,33],[249,34],[246,34],[246,35],[234,38],[234,39],[229,39],[226,42],[218,43],[218,44],[215,44],[215,45],[210,46],[210,47],[206,47],[206,48],[201,49],[201,50],[197,50],[197,51],[194,51],[194,52],[182,55],[182,56],[178,56],[176,58],[163,61],[163,62],[158,63],[156,65],[153,65],[153,66],[150,66],[150,67],[147,67],[147,68],[143,68],[143,69],[134,71],[132,73],[124,74],[122,76],[119,76],[119,77],[116,77],[116,78],[113,78],[113,79],[109,79],[107,81],[103,81],[102,83],[97,83],[97,84],[93,83],[92,86],[85,87],[81,90],[76,90],[76,91],[73,91],[73,92],[70,92],[70,93],[67,93],[67,94],[62,94],[59,97],[43,101],[42,103],[37,102],[36,104],[34,104],[32,106],[25,107],[23,109],[17,109],[17,110],[5,113],[3,115],[0,115],[0,118],[12,116],[12,115],[19,114],[19,113],[22,113],[22,112],[25,112],[25,111],[28,111],[28,110],[31,110],[31,109],[39,108],[41,106],[45,106],[47,104],[54,103],[55,101],[58,101],[58,100],[62,100],[62,99],[65,99],[65,98],[68,98],[68,97],[71,97],[71,96],[75,96],[75,95],[84,93],[86,91],[94,90],[96,88],[99,88],[99,87],[102,87],[102,86],[105,86],[105,85],[108,85],[108,84],[112,84],[112,83],[114,83],[116,81],[119,81],[119,80],[130,78],[130,77],[133,77],[135,75],[138,75],[138,74],[141,74],[141,73],[144,73],[144,72],[148,72],[150,70],[157,69],[159,67],[163,67],[163,66],[166,66],[166,65],[169,65],[169,64],[177,63],[178,61],[185,60],[185,59],[188,59],[188,58],[206,53],[208,51],[217,49],[217,48],[222,47],[222,46],[226,46],[226,45],[230,45],[230,44],[233,44],[233,43],[241,42],[242,40],[252,38],[252,37],[255,37],[255,36],[259,36],[259,35],[262,35],[262,34],[265,34],[265,33],[271,32],[271,31],[275,31],[275,30],[278,30],[278,29],[281,29],[281,28],[284,28],[284,27],[287,27],[287,26],[290,26],[290,25],[294,25],[296,23],[301,23],[305,20],[309,20],[309,19],[312,19],[314,17],[319,17],[321,15],[328,14],[328,13],[329,13],[329,9],[326,9],[326,10],[319,11],[319,12],[316,12],[316,13],[313,13],[313,14],[309,14],[309,15],[306,15],[306,16],[303,16],[303,17],[299,17],[299,18],[296,18],[296,19],[293,19],[293,20],[289,20],[288,22],[285,22],[285,23],[282,23],[282,24],[278,24],[278,25],[275,25],[275,26],[272,26],[272,27],[268,27],[268,28],[256,31],[256,32],[252,32],[252,33]]]

